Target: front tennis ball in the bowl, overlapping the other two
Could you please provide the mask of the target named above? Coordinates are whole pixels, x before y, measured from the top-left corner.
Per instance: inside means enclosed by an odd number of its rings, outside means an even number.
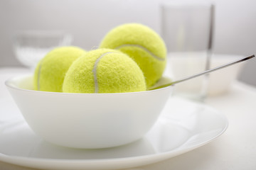
[[[145,91],[142,70],[117,50],[97,49],[75,60],[63,82],[66,93],[124,93]]]

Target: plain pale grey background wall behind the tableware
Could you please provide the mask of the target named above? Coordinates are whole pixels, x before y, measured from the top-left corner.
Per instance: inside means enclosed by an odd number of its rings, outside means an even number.
[[[160,33],[159,4],[167,0],[0,0],[0,67],[20,66],[11,36],[18,30],[67,30],[73,45],[90,50],[111,28],[139,22]],[[213,0],[216,6],[213,51],[256,54],[256,1]],[[240,80],[256,86],[256,60],[247,62]]]

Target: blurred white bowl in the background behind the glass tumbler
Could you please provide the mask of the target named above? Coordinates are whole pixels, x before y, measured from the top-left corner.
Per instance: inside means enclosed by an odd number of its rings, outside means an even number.
[[[188,55],[188,56],[186,56]],[[242,55],[221,55],[215,54],[210,59],[210,68],[219,67],[223,64],[234,62],[235,60],[242,59]],[[190,77],[205,70],[204,63],[206,60],[203,58],[203,53],[185,53],[182,54],[170,53],[165,75],[174,77],[174,81]],[[224,69],[219,69],[211,72],[208,79],[208,96],[218,96],[225,94],[230,90],[231,84],[238,78],[238,75],[245,65],[245,62],[234,64]],[[184,81],[181,84],[176,84],[174,94],[178,93],[200,93],[203,88],[204,76]]]

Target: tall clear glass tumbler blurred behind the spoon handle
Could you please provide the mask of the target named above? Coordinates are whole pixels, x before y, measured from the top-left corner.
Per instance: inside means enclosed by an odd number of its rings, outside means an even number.
[[[209,69],[213,43],[214,5],[171,1],[161,5],[161,35],[174,79]],[[174,94],[203,101],[208,75],[176,84]]]

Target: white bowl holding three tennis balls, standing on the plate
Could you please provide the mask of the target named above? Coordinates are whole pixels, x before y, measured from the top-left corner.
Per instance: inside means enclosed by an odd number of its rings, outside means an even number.
[[[172,87],[122,94],[66,94],[33,90],[33,77],[6,81],[31,129],[44,140],[75,148],[125,145],[156,123]]]

